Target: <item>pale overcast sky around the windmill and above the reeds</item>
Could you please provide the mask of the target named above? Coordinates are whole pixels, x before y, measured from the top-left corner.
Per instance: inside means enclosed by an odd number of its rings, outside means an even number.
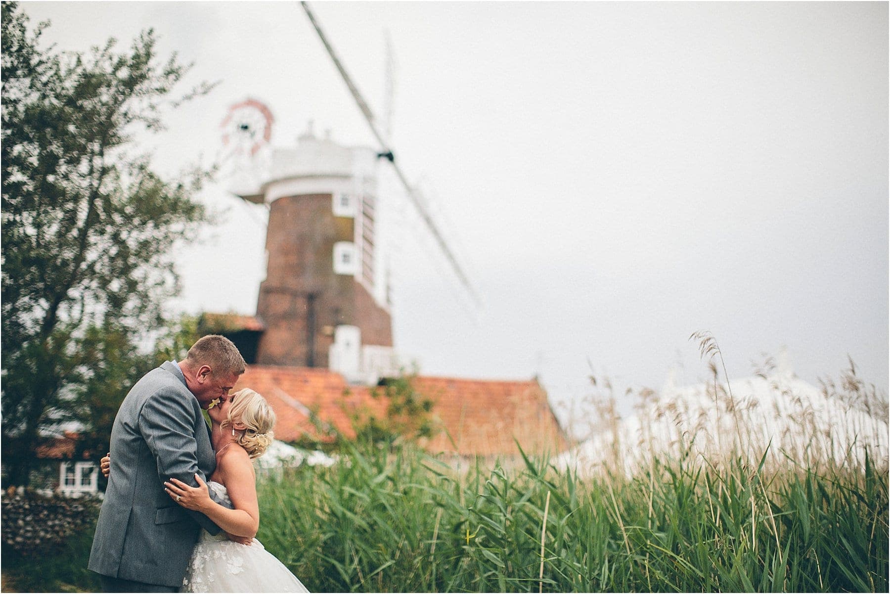
[[[275,146],[308,119],[374,144],[295,2],[23,7],[64,49],[155,28],[196,62],[190,81],[222,81],[167,119],[163,171],[212,159],[248,95]],[[312,7],[377,111],[389,31],[396,157],[482,296],[467,313],[432,240],[392,232],[396,348],[422,372],[537,373],[571,400],[589,360],[620,391],[658,388],[671,368],[706,376],[687,338],[708,329],[731,377],[787,346],[802,378],[837,377],[849,354],[886,392],[887,4]],[[255,313],[263,210],[204,199],[224,222],[180,250],[180,306]],[[384,199],[392,224],[413,220]]]

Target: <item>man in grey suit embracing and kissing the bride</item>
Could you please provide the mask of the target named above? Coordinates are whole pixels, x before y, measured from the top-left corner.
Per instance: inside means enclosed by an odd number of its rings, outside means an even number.
[[[245,362],[231,340],[201,338],[182,362],[145,374],[121,403],[111,429],[111,476],[89,569],[106,592],[174,592],[201,527],[219,526],[164,491],[178,478],[197,486],[216,467],[201,409],[229,394]]]

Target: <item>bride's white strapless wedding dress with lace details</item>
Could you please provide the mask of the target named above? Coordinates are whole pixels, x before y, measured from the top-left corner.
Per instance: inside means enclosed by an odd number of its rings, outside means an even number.
[[[231,508],[223,484],[207,482]],[[232,542],[225,533],[201,530],[182,580],[181,592],[308,592],[274,555],[254,539],[250,546]]]

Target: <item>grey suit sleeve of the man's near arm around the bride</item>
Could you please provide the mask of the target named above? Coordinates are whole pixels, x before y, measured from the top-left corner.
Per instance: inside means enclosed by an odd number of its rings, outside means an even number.
[[[198,468],[194,419],[195,412],[190,403],[174,389],[161,388],[142,406],[139,430],[158,461],[158,479],[162,484],[170,478],[178,478],[197,487],[195,474],[206,482],[206,476]],[[220,532],[220,527],[204,514],[193,509],[184,510],[208,533]]]

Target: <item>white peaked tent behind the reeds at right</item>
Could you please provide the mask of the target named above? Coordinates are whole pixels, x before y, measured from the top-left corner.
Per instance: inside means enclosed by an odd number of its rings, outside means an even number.
[[[732,395],[730,393],[732,390]],[[808,467],[887,464],[887,419],[862,403],[829,395],[789,372],[726,384],[664,387],[635,414],[554,459],[580,474],[615,468],[628,475],[656,456],[684,451],[712,462],[736,452],[759,462]],[[886,409],[884,409],[886,410]]]

